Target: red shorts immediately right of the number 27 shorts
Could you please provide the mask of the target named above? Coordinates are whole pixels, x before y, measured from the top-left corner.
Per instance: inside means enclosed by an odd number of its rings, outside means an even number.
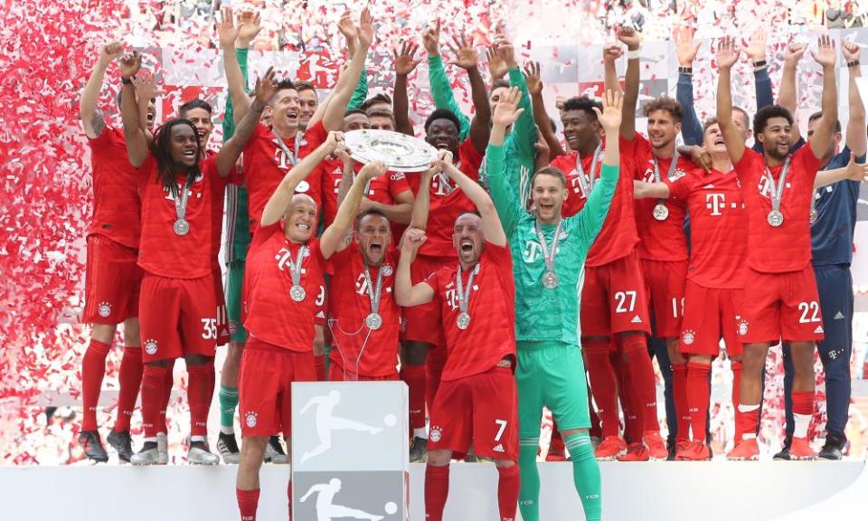
[[[654,317],[654,336],[676,338],[684,317],[684,284],[687,261],[642,260],[648,295],[648,311]]]

